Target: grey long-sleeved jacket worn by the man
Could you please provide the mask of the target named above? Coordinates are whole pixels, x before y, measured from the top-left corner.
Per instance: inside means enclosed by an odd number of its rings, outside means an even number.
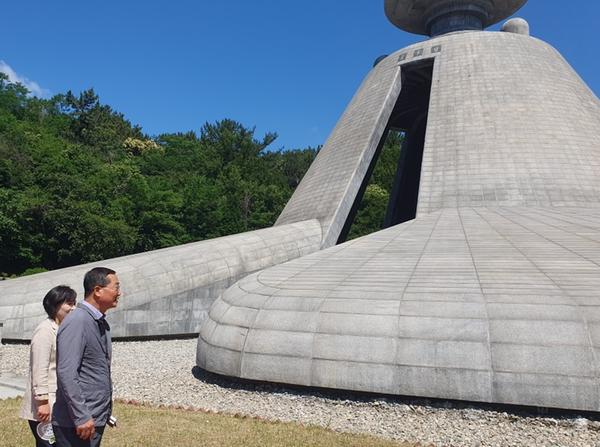
[[[104,426],[112,411],[110,327],[93,310],[79,303],[58,329],[55,425],[76,427],[93,418]]]

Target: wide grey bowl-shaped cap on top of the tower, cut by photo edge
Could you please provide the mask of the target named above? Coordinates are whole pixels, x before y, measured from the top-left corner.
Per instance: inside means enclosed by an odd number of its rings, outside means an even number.
[[[385,14],[398,28],[438,36],[482,30],[511,16],[527,0],[385,0]]]

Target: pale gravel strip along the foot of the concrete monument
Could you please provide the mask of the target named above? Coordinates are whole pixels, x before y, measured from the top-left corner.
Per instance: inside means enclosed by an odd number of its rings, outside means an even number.
[[[0,372],[26,374],[28,349],[2,345]],[[203,373],[194,367],[195,357],[195,339],[115,342],[115,397],[315,424],[423,445],[600,446],[600,419],[595,417],[540,416],[486,405],[240,383]]]

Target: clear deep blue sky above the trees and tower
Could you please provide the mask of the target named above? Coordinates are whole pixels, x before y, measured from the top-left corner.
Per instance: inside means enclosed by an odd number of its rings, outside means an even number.
[[[599,0],[516,15],[600,94]],[[231,118],[273,149],[324,143],[375,58],[424,39],[383,0],[21,0],[0,35],[0,71],[39,95],[93,87],[150,135]]]

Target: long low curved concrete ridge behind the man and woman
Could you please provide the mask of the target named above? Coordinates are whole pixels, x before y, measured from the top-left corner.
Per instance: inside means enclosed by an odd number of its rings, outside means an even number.
[[[197,333],[213,300],[245,275],[318,250],[321,225],[307,220],[0,282],[4,339],[28,340],[44,317],[46,292],[67,284],[83,297],[94,266],[114,269],[123,286],[110,312],[113,337]]]

